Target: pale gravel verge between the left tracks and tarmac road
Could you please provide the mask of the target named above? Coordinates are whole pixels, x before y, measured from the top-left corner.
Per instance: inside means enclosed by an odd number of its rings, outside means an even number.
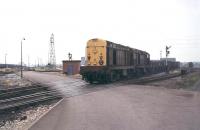
[[[28,130],[28,128],[44,113],[47,113],[59,100],[54,100],[39,106],[33,106],[21,111],[2,115],[0,130]]]

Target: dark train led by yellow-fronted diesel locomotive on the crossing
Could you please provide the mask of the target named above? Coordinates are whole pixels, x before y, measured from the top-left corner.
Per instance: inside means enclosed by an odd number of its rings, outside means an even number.
[[[150,55],[145,51],[96,38],[87,42],[86,63],[81,66],[80,74],[87,82],[107,83],[165,70],[163,61],[150,61]]]

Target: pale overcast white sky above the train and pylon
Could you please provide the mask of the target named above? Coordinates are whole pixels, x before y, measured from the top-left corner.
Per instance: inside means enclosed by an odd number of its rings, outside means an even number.
[[[85,56],[86,42],[102,38],[150,53],[200,61],[200,0],[1,0],[0,63],[48,61],[55,36],[56,62]]]

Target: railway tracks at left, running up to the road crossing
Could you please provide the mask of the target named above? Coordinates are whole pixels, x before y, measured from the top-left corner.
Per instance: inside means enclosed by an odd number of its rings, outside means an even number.
[[[49,100],[62,98],[56,90],[33,84],[29,87],[16,87],[0,90],[0,113],[18,110]]]

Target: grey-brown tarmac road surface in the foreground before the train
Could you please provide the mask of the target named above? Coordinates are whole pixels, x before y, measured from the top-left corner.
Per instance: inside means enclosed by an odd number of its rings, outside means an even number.
[[[48,81],[47,77],[41,78]],[[30,130],[199,130],[199,101],[199,92],[142,85],[108,87],[65,98]]]

